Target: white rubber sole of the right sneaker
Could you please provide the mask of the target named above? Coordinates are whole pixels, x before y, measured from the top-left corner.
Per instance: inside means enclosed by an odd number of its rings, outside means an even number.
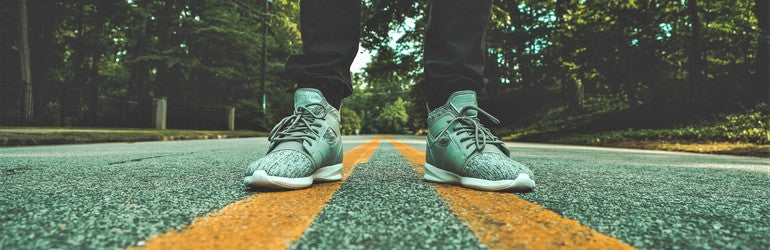
[[[490,181],[479,178],[462,177],[455,173],[425,163],[425,180],[437,183],[460,184],[464,187],[483,191],[532,191],[535,181],[528,174],[520,173],[515,180]]]

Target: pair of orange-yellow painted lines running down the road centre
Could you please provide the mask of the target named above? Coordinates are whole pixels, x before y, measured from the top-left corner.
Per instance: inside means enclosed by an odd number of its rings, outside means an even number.
[[[420,175],[425,153],[387,137]],[[147,249],[286,249],[302,236],[353,168],[369,160],[380,136],[345,153],[340,182],[312,188],[260,192],[147,241]],[[468,223],[479,240],[492,249],[587,248],[632,249],[579,222],[559,216],[512,193],[483,192],[431,184],[455,216]]]

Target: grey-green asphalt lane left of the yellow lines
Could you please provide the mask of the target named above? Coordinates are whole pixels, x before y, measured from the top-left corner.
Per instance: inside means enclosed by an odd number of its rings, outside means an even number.
[[[0,148],[0,249],[141,245],[253,194],[243,171],[267,146],[251,138]]]

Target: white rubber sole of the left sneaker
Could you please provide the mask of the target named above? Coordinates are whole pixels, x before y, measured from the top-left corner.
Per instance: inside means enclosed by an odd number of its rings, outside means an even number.
[[[265,170],[257,170],[251,176],[243,178],[243,183],[248,187],[301,189],[310,187],[313,185],[313,181],[342,180],[341,170],[342,163],[319,168],[312,175],[299,178],[271,176]]]

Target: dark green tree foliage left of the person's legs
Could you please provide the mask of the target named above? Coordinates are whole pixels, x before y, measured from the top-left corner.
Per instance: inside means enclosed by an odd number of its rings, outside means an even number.
[[[269,16],[261,1],[28,2],[35,84],[98,89],[108,99],[167,97],[169,103],[247,111],[261,109],[261,41],[269,17],[264,73],[270,109],[259,117],[239,112],[237,120],[264,129],[291,112],[286,93],[294,86],[283,62],[301,46],[297,1],[271,1]],[[16,34],[17,7],[15,1],[0,5],[0,33]],[[0,82],[17,78],[18,60],[5,60],[17,55],[15,38],[0,36],[2,65],[13,65],[0,67]]]

